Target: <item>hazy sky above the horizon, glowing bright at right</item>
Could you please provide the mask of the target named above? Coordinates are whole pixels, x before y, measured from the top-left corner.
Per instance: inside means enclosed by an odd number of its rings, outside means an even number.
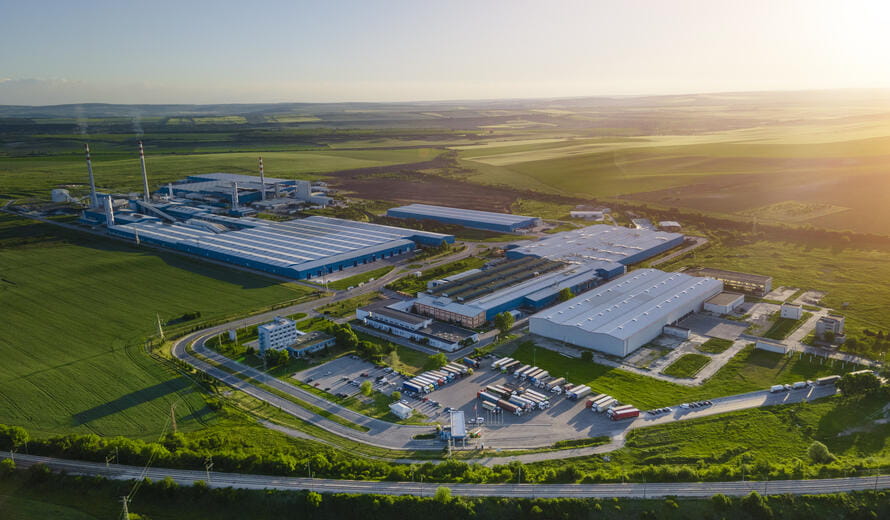
[[[0,0],[0,104],[890,87],[890,2]]]

